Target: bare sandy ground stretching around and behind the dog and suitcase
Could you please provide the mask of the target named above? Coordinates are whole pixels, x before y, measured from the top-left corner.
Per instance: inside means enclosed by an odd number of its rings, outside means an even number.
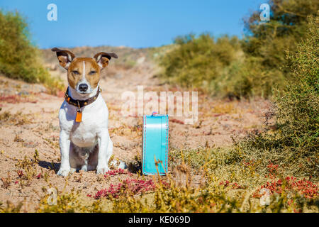
[[[138,85],[143,85],[145,91],[155,92],[180,89],[161,84],[154,77],[157,68],[149,62],[140,61],[140,64],[128,70],[115,71],[111,77],[107,76],[106,71],[101,79],[102,96],[109,110],[113,155],[129,163],[135,156],[141,155],[142,117],[122,116],[123,92],[136,93]],[[52,74],[60,74],[66,82],[67,76],[61,74],[60,70]],[[0,89],[0,201],[4,204],[6,201],[13,204],[22,201],[22,211],[36,211],[40,198],[45,195],[43,188],[50,188],[50,184],[57,187],[59,192],[69,192],[74,188],[86,196],[128,177],[116,175],[106,179],[93,171],[76,172],[67,181],[57,176],[60,167],[57,114],[63,97],[46,94],[45,88],[40,85],[6,77],[0,77],[0,82],[3,84]],[[264,114],[270,106],[268,101],[261,99],[225,101],[198,93],[198,121],[194,125],[184,124],[184,118],[170,118],[170,148],[196,149],[206,143],[216,147],[231,145],[232,137],[243,137],[251,131],[262,130]],[[35,150],[38,151],[39,160],[32,170],[26,170],[21,160],[25,157],[26,160],[34,159]],[[133,173],[130,177],[137,175]]]

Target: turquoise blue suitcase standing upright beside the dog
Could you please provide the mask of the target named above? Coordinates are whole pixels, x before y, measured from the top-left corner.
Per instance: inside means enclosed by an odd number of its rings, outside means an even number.
[[[165,175],[168,166],[169,150],[169,116],[153,113],[143,116],[142,137],[142,173],[157,175],[155,159],[158,163],[159,175]],[[164,167],[164,168],[163,168]]]

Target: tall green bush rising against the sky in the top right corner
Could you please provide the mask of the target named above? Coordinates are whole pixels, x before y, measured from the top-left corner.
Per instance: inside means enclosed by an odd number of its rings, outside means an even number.
[[[274,94],[274,87],[283,88],[290,77],[286,50],[295,50],[308,30],[307,16],[315,16],[318,0],[269,0],[270,21],[261,23],[260,11],[244,20],[246,35],[242,40],[245,62],[228,76],[230,83],[222,88],[236,96],[264,96]],[[233,80],[233,78],[235,78]],[[242,90],[244,86],[244,90]]]

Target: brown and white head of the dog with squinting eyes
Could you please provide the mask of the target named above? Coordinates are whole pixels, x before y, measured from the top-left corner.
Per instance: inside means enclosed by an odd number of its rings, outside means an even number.
[[[57,59],[67,70],[67,81],[78,94],[86,95],[93,92],[99,84],[101,70],[108,66],[112,57],[118,58],[115,53],[98,52],[94,57],[75,57],[69,50],[52,48],[57,52]]]

